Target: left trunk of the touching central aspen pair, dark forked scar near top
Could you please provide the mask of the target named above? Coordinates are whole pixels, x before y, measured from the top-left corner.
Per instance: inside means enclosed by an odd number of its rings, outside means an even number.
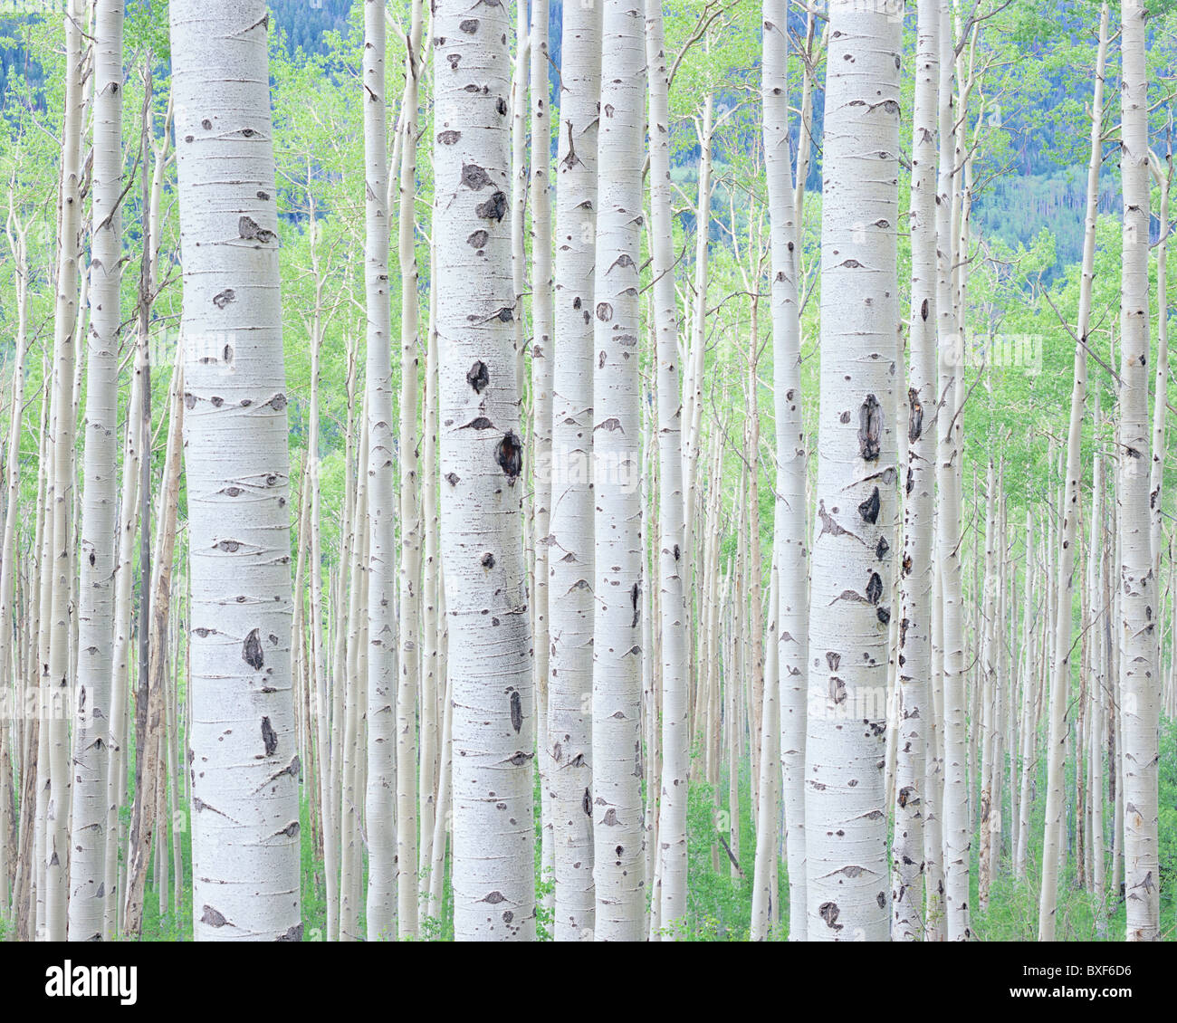
[[[548,523],[547,749],[557,941],[591,934],[593,642],[593,263],[601,5],[564,8],[556,191],[556,351]]]

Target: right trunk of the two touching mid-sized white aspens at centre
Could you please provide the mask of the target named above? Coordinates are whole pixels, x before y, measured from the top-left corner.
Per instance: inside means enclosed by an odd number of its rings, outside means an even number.
[[[601,16],[600,178],[593,286],[593,881],[598,941],[637,941],[641,844],[641,406],[638,264],[645,22],[625,0]]]

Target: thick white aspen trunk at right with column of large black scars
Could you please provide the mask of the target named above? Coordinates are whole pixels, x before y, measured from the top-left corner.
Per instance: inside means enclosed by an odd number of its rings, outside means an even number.
[[[807,937],[889,934],[883,791],[895,545],[902,7],[830,9],[822,408],[805,746]],[[852,783],[852,784],[851,784]]]

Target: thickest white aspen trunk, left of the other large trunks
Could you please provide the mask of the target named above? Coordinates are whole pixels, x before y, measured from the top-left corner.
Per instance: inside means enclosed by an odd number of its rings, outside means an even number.
[[[267,20],[255,0],[177,0],[169,13],[187,338],[194,932],[198,941],[298,941],[290,460]],[[237,167],[230,178],[226,161]]]

